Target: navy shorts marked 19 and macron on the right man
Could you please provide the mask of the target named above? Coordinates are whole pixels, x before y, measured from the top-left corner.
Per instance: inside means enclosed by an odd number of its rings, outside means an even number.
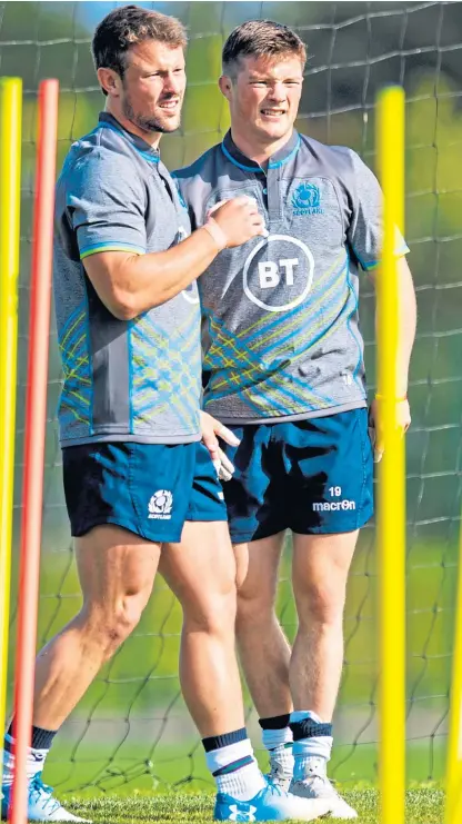
[[[368,410],[307,420],[229,427],[235,467],[223,484],[234,544],[284,529],[348,533],[373,514],[373,456]]]

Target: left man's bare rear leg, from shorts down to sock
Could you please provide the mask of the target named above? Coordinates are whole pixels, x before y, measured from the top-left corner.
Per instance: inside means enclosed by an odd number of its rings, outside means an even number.
[[[33,724],[58,729],[94,676],[137,626],[150,596],[159,544],[114,526],[76,540],[80,613],[39,653]]]

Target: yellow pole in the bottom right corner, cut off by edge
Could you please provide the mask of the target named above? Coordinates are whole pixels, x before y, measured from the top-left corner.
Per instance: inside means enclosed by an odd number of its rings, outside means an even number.
[[[446,763],[445,824],[462,822],[462,520],[460,530],[454,652]]]

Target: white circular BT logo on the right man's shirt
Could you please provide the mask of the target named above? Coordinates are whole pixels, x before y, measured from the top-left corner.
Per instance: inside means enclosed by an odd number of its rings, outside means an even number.
[[[274,260],[255,261],[267,244],[279,242],[277,257]],[[297,248],[297,257],[293,257],[293,250],[288,250],[288,246]],[[285,249],[284,249],[285,247]],[[292,255],[289,257],[288,251]],[[300,255],[300,251],[302,255]],[[253,264],[253,266],[252,266]],[[252,249],[245,260],[242,279],[243,289],[252,304],[257,304],[261,309],[267,311],[287,311],[293,309],[302,302],[311,289],[314,272],[314,258],[307,244],[290,235],[270,235],[263,238],[255,248]],[[284,298],[290,298],[283,304],[268,302],[263,298],[274,295],[277,289],[278,296],[281,294]],[[255,291],[258,292],[255,295]],[[294,295],[294,297],[291,297]]]

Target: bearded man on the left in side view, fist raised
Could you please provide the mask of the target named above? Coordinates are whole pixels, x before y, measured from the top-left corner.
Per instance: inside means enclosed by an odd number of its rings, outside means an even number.
[[[137,626],[158,567],[183,610],[180,678],[217,782],[215,817],[310,821],[329,810],[268,785],[244,726],[235,562],[212,463],[217,431],[237,440],[203,416],[209,448],[201,443],[195,279],[263,224],[242,197],[190,234],[158,148],[180,123],[184,44],[183,27],[164,14],[130,6],[104,18],[93,57],[106,111],[72,145],[57,186],[59,423],[83,604],[37,659],[27,767],[33,821],[81,821],[42,783],[44,758]],[[10,727],[3,753],[3,816],[13,734]]]

